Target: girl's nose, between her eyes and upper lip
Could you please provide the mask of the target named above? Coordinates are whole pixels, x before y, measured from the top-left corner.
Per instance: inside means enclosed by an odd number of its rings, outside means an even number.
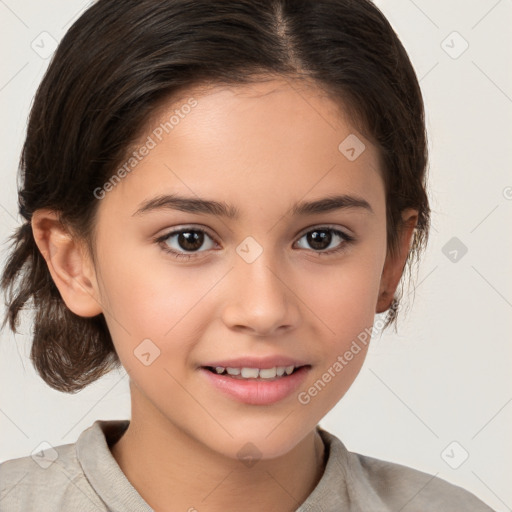
[[[300,300],[292,279],[289,273],[276,269],[270,253],[263,251],[251,263],[243,258],[235,260],[225,283],[230,291],[222,314],[230,329],[269,337],[299,325]]]

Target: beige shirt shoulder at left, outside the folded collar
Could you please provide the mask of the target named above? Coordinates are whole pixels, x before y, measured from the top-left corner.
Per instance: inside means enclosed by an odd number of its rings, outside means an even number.
[[[0,509],[106,510],[85,478],[74,443],[49,446],[33,455],[2,462]]]

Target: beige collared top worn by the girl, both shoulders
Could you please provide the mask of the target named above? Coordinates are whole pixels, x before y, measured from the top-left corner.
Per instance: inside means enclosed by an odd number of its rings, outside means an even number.
[[[76,443],[0,464],[0,512],[152,511],[109,449],[128,424],[97,420]],[[349,452],[336,436],[317,428],[327,464],[296,512],[493,512],[461,487]]]

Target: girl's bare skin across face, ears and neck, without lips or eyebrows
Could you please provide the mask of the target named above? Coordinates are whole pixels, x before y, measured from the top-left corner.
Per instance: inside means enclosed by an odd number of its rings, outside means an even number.
[[[299,391],[307,390],[389,308],[418,212],[403,212],[406,228],[391,257],[379,155],[314,85],[268,80],[195,89],[190,97],[197,106],[99,200],[96,264],[55,212],[35,212],[33,232],[66,305],[84,317],[105,315],[132,403],[130,426],[111,451],[149,505],[292,511],[324,471],[315,427],[350,388],[367,348],[307,405],[297,393],[267,406],[239,403],[198,366],[288,355],[311,364]],[[153,126],[179,106],[165,105]],[[354,161],[338,150],[349,134],[366,145]],[[333,191],[364,198],[373,213],[289,213],[295,202]],[[170,209],[133,216],[163,193],[226,201],[241,218]],[[356,240],[333,235],[328,249],[344,249],[319,256],[324,249],[304,235],[325,225]],[[183,226],[211,237],[189,261],[153,240]],[[248,236],[263,249],[252,263],[236,252]],[[187,251],[177,237],[167,244]],[[149,366],[134,355],[147,338],[160,350]],[[248,442],[261,454],[252,467],[237,457]]]

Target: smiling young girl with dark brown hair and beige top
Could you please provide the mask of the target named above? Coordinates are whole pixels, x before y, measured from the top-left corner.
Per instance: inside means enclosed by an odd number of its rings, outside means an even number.
[[[99,0],[37,91],[2,286],[130,420],[0,465],[2,511],[490,511],[318,426],[428,238],[408,56],[368,0]]]

